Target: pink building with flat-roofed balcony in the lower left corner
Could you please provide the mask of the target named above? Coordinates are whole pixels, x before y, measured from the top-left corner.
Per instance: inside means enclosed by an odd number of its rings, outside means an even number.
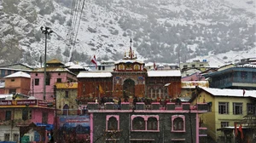
[[[53,129],[55,109],[44,100],[22,95],[0,95],[0,140],[48,142]]]

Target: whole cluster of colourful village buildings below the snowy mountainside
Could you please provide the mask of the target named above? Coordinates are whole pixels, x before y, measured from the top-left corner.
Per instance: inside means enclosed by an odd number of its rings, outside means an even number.
[[[0,66],[0,142],[256,142],[256,58]]]

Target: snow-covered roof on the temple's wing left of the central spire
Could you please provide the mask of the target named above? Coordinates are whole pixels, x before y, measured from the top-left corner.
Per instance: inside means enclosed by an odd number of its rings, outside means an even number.
[[[79,72],[79,77],[112,77],[111,72]]]

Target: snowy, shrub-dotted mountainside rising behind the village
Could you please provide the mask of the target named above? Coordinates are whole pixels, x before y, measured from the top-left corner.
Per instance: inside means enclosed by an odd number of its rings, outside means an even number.
[[[129,50],[145,61],[177,63],[207,56],[226,62],[255,56],[256,0],[1,0],[0,65],[38,66],[41,26],[55,33],[48,58],[90,64]],[[84,6],[83,6],[84,5]],[[237,53],[232,59],[225,54]],[[236,56],[236,57],[235,57]]]

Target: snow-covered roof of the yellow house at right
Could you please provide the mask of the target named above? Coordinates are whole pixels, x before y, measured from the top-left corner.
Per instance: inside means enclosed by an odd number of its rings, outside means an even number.
[[[201,88],[212,94],[213,96],[231,96],[231,97],[253,97],[256,98],[256,90],[244,90],[243,89],[213,89],[213,88]]]

